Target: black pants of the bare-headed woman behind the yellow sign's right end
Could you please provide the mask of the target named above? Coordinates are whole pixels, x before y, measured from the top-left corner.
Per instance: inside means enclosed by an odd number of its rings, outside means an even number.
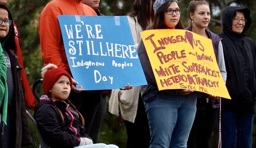
[[[210,140],[219,109],[212,107],[212,101],[207,103],[207,110],[197,110],[190,131],[187,148],[210,148]],[[196,144],[196,147],[195,147]]]

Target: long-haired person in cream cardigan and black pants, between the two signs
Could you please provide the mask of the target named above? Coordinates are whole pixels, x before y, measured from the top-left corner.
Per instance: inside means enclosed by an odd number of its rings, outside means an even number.
[[[136,48],[141,41],[140,33],[146,30],[154,17],[154,2],[155,0],[134,0],[132,10],[127,14]],[[124,121],[126,128],[125,148],[136,148],[137,144],[140,144],[140,148],[149,148],[150,130],[140,94],[140,86],[136,86],[130,91],[113,89],[109,101],[109,111],[124,119],[119,121],[121,124]]]

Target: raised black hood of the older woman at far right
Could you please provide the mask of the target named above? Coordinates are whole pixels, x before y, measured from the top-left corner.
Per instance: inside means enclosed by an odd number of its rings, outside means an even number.
[[[232,31],[232,20],[236,16],[237,11],[243,12],[245,19],[247,19],[241,35],[245,35],[245,31],[251,26],[252,18],[250,17],[249,9],[237,6],[227,6],[222,12],[222,30],[228,35],[230,33],[237,34]]]

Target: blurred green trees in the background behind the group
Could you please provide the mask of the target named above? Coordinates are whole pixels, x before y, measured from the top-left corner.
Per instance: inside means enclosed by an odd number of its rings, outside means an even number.
[[[38,17],[44,6],[51,0],[7,0],[7,6],[10,9],[13,20],[18,26],[20,46],[22,49],[23,61],[29,83],[32,87],[36,79],[40,78],[40,69],[43,61],[40,51],[40,42],[38,35]],[[187,22],[187,7],[190,0],[179,0],[183,22]],[[254,0],[207,0],[211,7],[211,22],[208,26],[214,33],[221,32],[221,12],[228,5],[241,5],[251,10],[252,25],[247,30],[247,36],[256,43],[256,1]],[[105,15],[126,15],[132,10],[133,0],[101,0],[99,9]],[[186,25],[187,26],[187,25]],[[37,91],[43,94],[42,87]],[[32,96],[31,96],[32,97]],[[33,111],[29,110],[32,114]],[[164,120],[164,119],[163,119]],[[39,144],[35,126],[31,122],[31,131],[35,141]],[[106,144],[117,144],[124,148],[126,141],[125,126],[119,126],[118,117],[106,113],[106,118],[100,133],[99,141]],[[217,148],[218,130],[212,134],[212,148]],[[252,148],[256,148],[256,122],[253,129]],[[28,146],[27,148],[33,148]]]

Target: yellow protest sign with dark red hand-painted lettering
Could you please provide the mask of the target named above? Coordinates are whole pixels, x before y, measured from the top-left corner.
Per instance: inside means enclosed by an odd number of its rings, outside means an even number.
[[[192,89],[230,99],[212,40],[188,30],[141,32],[159,90]]]

